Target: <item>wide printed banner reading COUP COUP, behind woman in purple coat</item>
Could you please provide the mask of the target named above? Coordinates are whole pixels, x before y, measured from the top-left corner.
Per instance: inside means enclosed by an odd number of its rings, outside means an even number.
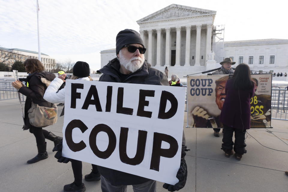
[[[250,127],[271,128],[271,74],[251,74],[257,82],[250,100]],[[187,124],[194,128],[223,128],[219,120],[229,75],[187,77]],[[255,80],[256,79],[256,80]],[[237,109],[235,109],[237,110]]]

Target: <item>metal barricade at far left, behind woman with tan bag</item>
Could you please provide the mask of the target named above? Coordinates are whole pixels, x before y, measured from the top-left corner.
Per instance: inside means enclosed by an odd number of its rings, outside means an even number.
[[[0,100],[18,98],[17,89],[11,84],[13,81],[13,79],[0,79]],[[24,101],[24,95],[20,94],[20,96]]]

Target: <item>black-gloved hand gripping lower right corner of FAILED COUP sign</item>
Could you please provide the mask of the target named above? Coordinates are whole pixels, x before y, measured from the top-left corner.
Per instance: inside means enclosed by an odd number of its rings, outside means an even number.
[[[182,146],[180,168],[176,175],[177,179],[179,179],[179,182],[175,185],[165,183],[163,187],[168,189],[168,191],[178,191],[185,186],[187,180],[187,164],[184,157],[186,155],[185,151],[189,150],[190,149],[187,149],[187,146]]]

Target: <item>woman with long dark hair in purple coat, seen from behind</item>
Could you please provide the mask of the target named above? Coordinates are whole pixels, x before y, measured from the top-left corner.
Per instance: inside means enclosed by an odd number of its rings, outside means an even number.
[[[226,98],[220,114],[223,123],[222,148],[225,157],[233,155],[241,160],[246,153],[245,133],[250,129],[250,98],[254,95],[254,84],[251,81],[250,68],[247,64],[239,64],[233,77],[225,85]],[[232,137],[235,133],[235,143]]]

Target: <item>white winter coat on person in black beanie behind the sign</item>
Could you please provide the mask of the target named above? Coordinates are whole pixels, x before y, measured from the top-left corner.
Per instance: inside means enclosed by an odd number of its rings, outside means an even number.
[[[83,77],[76,80],[89,81],[89,77]],[[65,102],[65,87],[58,91],[60,86],[63,84],[63,80],[56,77],[50,85],[47,87],[43,98],[50,103],[64,103]]]

